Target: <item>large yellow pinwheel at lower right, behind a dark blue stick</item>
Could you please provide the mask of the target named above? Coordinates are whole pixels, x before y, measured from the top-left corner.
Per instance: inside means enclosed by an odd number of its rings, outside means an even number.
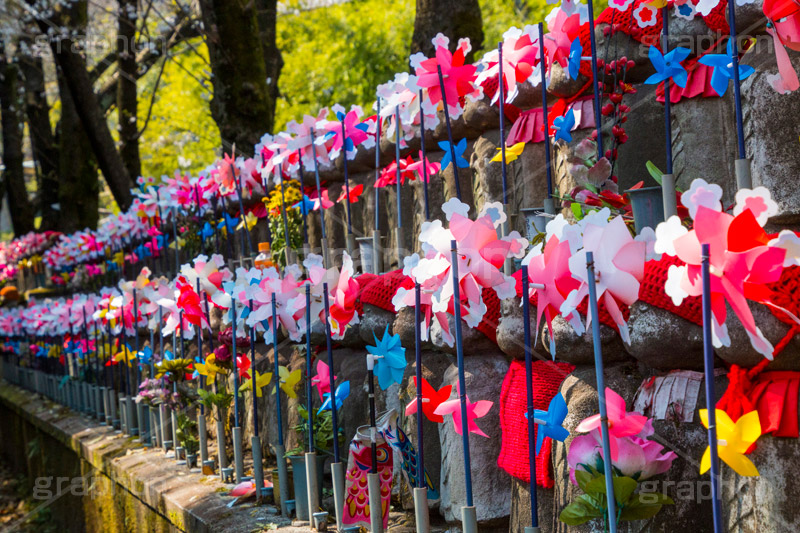
[[[761,422],[758,411],[750,411],[739,418],[736,423],[722,409],[716,410],[717,417],[717,450],[719,458],[740,476],[757,476],[758,470],[747,458],[745,452],[761,436]],[[708,411],[700,409],[700,421],[708,427]],[[705,474],[711,468],[711,448],[707,447],[700,460],[700,473]]]

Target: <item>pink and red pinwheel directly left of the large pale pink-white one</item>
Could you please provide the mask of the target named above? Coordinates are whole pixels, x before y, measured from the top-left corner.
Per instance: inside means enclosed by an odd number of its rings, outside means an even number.
[[[536,293],[536,339],[538,341],[539,324],[542,315],[547,320],[547,326],[552,331],[553,317],[558,315],[564,303],[565,296],[578,288],[579,282],[572,277],[569,271],[569,258],[571,255],[569,241],[561,241],[556,235],[547,240],[544,253],[541,245],[534,247],[522,260],[523,276],[528,274],[533,284],[531,291]],[[583,331],[580,317],[577,312],[569,313],[564,317],[577,332]],[[579,333],[580,334],[580,333]],[[556,356],[555,341],[550,340],[550,355]]]

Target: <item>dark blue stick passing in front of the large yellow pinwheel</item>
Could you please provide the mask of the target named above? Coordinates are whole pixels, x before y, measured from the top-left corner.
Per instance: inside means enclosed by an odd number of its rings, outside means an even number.
[[[734,66],[734,68],[737,68]],[[711,455],[711,502],[714,533],[721,533],[722,499],[719,487],[719,453],[717,449],[717,414],[714,394],[714,347],[711,337],[711,268],[709,245],[701,247],[703,277],[703,363],[705,367],[706,409],[708,410],[708,448]]]

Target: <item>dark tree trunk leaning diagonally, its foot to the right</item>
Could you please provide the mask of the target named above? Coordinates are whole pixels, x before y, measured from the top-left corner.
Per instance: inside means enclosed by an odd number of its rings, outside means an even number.
[[[34,8],[37,7],[35,0],[26,1]],[[46,15],[43,13],[36,19],[39,31],[44,35],[51,35],[52,24],[66,28],[85,26],[86,1],[78,0],[67,4],[56,4]],[[70,32],[56,32],[51,36],[50,49],[56,65],[60,69],[60,78],[63,78],[69,88],[75,110],[89,139],[100,170],[103,172],[114,200],[124,211],[132,202],[133,181],[117,151],[114,139],[111,137],[105,115],[97,103],[92,81],[86,68],[86,61],[81,54],[81,44],[73,38]]]

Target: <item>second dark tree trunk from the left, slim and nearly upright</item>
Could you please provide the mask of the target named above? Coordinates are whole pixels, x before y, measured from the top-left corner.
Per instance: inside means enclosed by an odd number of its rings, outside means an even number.
[[[30,41],[22,43],[19,66],[25,80],[25,114],[33,158],[39,169],[40,231],[59,228],[58,149],[50,126],[50,104],[44,87],[42,58],[31,54]]]

